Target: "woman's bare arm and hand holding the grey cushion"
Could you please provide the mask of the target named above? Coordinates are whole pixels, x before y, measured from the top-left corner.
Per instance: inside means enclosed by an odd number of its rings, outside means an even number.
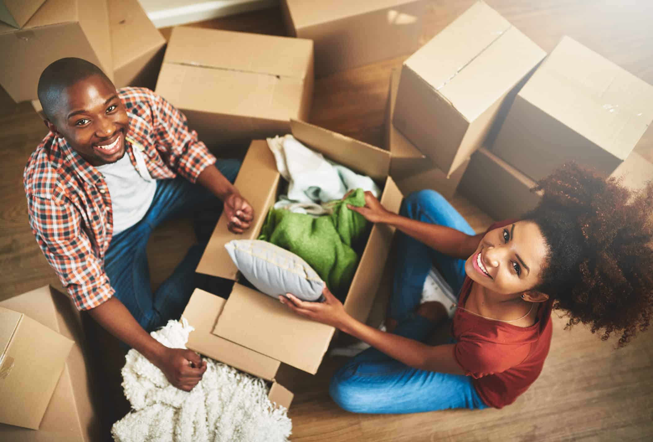
[[[414,339],[381,332],[353,319],[343,308],[342,302],[326,287],[323,295],[325,302],[306,302],[293,294],[281,296],[279,301],[298,315],[339,328],[407,366],[440,373],[464,374],[454,359],[453,345],[426,345]]]

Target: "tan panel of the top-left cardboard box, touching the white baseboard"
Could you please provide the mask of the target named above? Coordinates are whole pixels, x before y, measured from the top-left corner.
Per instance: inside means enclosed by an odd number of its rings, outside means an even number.
[[[114,71],[148,50],[165,44],[163,35],[154,27],[136,0],[112,0],[106,3]]]

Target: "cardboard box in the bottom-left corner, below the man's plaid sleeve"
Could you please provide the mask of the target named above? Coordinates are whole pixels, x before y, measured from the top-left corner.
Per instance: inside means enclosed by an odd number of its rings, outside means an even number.
[[[96,370],[68,296],[46,286],[0,302],[0,345],[1,441],[103,439]]]

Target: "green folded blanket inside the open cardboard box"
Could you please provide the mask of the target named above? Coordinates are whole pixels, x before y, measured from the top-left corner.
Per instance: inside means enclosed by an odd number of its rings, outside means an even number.
[[[330,202],[330,215],[313,217],[283,209],[271,209],[259,240],[287,249],[302,259],[327,283],[327,287],[343,300],[349,291],[358,266],[355,249],[364,239],[367,220],[349,210],[347,204],[362,207],[365,193],[357,189],[345,200]]]

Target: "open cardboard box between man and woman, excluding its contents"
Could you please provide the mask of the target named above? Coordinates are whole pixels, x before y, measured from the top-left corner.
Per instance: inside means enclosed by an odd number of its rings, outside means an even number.
[[[345,165],[358,173],[366,174],[383,187],[381,203],[385,208],[398,212],[402,194],[389,177],[390,154],[369,144],[358,142],[347,136],[327,131],[319,127],[291,121],[291,131],[295,138],[311,149],[323,153],[328,159]],[[252,178],[256,179],[253,180]],[[197,272],[212,276],[238,279],[238,270],[229,258],[224,245],[233,239],[257,238],[268,209],[276,202],[281,184],[281,176],[276,168],[274,156],[265,140],[255,140],[249,146],[236,187],[247,197],[253,206],[255,219],[251,228],[244,234],[232,234],[227,230],[227,219],[221,217],[215,227]],[[374,225],[366,247],[360,256],[357,272],[345,299],[345,310],[356,319],[365,322],[372,308],[374,296],[381,280],[394,229],[387,225]],[[193,294],[189,305],[196,302]],[[218,302],[216,302],[217,304]],[[232,345],[242,346],[251,352],[267,358],[270,366],[268,377],[274,377],[274,366],[284,362],[308,373],[316,373],[327,351],[335,329],[325,324],[299,317],[278,300],[253,289],[235,283],[229,299],[222,306],[199,309],[195,317],[187,317],[193,326],[206,321],[210,334],[201,338],[202,348],[193,340],[193,349],[217,360],[230,356],[218,344],[231,341]],[[190,347],[190,345],[189,345]],[[227,362],[225,360],[225,362]],[[227,362],[231,364],[231,362]],[[236,366],[236,365],[234,365]],[[244,358],[238,368],[254,373],[257,364]],[[259,375],[258,373],[255,373]]]

